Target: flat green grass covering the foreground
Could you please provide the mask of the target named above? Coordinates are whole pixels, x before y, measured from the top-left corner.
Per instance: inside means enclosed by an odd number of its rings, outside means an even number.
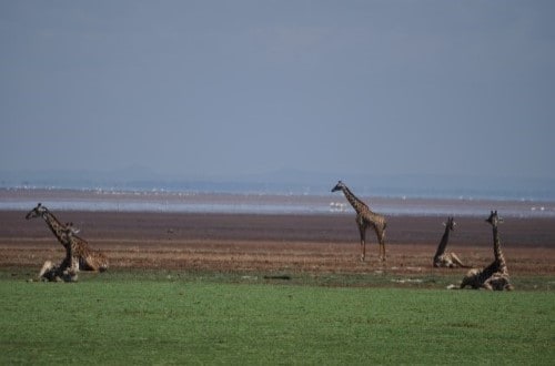
[[[549,364],[555,292],[0,276],[0,364]]]

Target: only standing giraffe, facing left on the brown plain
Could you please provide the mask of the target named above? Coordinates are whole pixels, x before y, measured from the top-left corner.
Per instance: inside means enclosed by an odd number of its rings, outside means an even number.
[[[345,199],[347,199],[354,211],[356,211],[356,225],[361,234],[361,261],[364,261],[366,256],[366,228],[371,226],[376,233],[380,244],[380,260],[385,262],[385,227],[387,226],[385,217],[372,212],[372,210],[370,210],[364,202],[359,200],[342,181],[339,181],[332,189],[332,192],[337,191],[343,192]]]

